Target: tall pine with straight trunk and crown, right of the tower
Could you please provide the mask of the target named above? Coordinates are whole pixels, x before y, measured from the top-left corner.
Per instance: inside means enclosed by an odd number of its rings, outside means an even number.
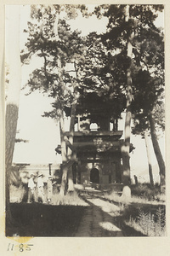
[[[127,114],[125,120],[125,140],[122,147],[123,183],[125,187],[129,187],[130,184],[130,123],[132,118],[132,100],[136,86],[135,82],[132,83],[132,80],[135,78],[133,70],[138,73],[143,68],[145,59],[154,60],[155,58],[153,51],[151,51],[152,54],[150,55],[150,38],[145,38],[144,34],[149,34],[150,32],[152,32],[152,35],[153,33],[157,34],[154,21],[157,16],[156,12],[162,9],[163,6],[161,5],[103,5],[95,9],[95,14],[99,17],[105,15],[109,18],[107,32],[101,38],[112,55],[120,56],[123,63],[122,67],[127,76]],[[158,44],[159,42],[160,40]],[[140,55],[136,55],[136,52],[140,52]],[[159,58],[156,58],[155,62],[150,61],[150,67],[154,69],[157,63],[161,65]],[[128,195],[130,195],[130,190],[127,190]]]

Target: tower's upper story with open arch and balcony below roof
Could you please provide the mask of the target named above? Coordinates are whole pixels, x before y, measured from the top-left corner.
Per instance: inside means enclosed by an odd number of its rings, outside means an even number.
[[[98,154],[120,151],[122,131],[118,131],[117,112],[114,105],[103,102],[92,94],[77,105],[74,146],[78,154]],[[66,132],[70,137],[70,132]]]

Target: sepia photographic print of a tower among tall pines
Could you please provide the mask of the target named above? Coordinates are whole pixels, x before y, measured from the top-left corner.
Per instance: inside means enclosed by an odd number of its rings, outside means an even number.
[[[4,44],[5,236],[166,237],[165,5],[7,4]]]

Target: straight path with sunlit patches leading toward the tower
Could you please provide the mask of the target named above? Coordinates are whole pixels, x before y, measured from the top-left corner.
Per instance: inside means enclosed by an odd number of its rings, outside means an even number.
[[[82,197],[88,203],[75,236],[105,237],[123,236],[116,223],[120,208],[93,195]]]

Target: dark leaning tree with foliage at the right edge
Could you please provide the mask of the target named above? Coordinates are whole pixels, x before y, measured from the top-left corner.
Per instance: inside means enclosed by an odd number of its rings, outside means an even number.
[[[134,38],[135,48],[133,54],[136,58],[136,66],[139,67],[140,73],[140,87],[137,87],[136,95],[139,98],[143,97],[143,106],[145,116],[150,125],[150,133],[153,148],[156,154],[156,159],[160,169],[161,184],[165,183],[165,163],[161,155],[161,150],[156,137],[156,125],[154,116],[154,108],[156,104],[161,104],[160,95],[164,90],[164,36],[161,28],[157,28],[154,24],[157,11],[162,11],[162,5],[151,5],[150,9],[143,7],[139,15],[139,27]],[[144,12],[147,16],[144,16]],[[147,19],[147,22],[145,21]],[[147,25],[144,26],[143,22]],[[143,72],[142,72],[143,71]],[[144,74],[144,71],[147,71]],[[144,76],[143,76],[144,74]],[[135,74],[136,76],[136,74]],[[148,76],[146,81],[147,86],[144,83],[144,78]],[[137,76],[138,78],[138,76]],[[139,78],[138,78],[139,79]],[[148,102],[147,102],[148,101]],[[141,102],[141,100],[139,101]],[[140,110],[141,111],[141,110]]]

